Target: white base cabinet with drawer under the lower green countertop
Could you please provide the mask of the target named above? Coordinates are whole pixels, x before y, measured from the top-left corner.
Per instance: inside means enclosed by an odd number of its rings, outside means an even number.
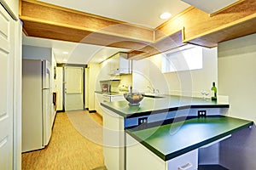
[[[125,164],[127,170],[195,170],[198,168],[198,150],[192,150],[169,161],[163,161],[126,133]]]

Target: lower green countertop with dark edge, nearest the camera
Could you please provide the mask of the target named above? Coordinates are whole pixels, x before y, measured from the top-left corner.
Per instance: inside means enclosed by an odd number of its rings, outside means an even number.
[[[160,127],[125,131],[167,161],[252,125],[251,121],[228,116],[207,116]]]

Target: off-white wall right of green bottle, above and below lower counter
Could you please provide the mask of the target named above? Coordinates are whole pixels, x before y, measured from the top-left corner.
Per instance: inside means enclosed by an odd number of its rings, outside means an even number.
[[[256,34],[218,44],[218,92],[228,95],[229,116],[256,122]],[[230,169],[256,169],[256,128],[221,144],[221,162]]]

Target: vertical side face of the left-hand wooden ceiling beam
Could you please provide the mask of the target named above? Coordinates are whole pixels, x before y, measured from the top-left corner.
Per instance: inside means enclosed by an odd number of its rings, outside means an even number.
[[[114,37],[154,42],[154,29],[131,25],[119,20],[111,20],[68,8],[61,8],[48,3],[41,3],[35,0],[22,0],[20,10],[20,19],[23,21],[32,22],[34,20],[37,23],[44,23],[44,25],[49,24],[49,26],[62,26]],[[27,27],[27,29],[30,29],[30,27]]]

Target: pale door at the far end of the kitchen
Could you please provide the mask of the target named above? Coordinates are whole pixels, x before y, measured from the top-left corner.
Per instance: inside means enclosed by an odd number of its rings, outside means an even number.
[[[84,110],[83,75],[83,67],[65,67],[65,111]]]

